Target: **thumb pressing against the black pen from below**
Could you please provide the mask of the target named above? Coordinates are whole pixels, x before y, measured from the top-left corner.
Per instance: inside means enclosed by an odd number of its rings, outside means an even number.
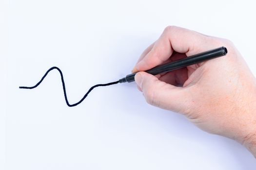
[[[143,92],[146,101],[154,106],[184,113],[191,106],[189,87],[177,87],[158,80],[157,77],[140,71],[135,82]]]

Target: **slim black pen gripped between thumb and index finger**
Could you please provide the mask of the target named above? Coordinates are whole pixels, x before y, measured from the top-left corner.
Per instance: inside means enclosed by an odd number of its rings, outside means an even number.
[[[179,68],[184,68],[193,64],[197,64],[206,60],[210,60],[213,58],[221,57],[227,54],[227,49],[225,47],[219,47],[214,50],[209,50],[205,52],[201,52],[196,55],[189,56],[187,58],[183,58],[171,63],[163,64],[160,66],[157,66],[155,68],[151,68],[149,70],[146,70],[145,72],[152,74],[152,75],[157,75],[160,73],[165,73],[169,71],[173,71]],[[133,82],[134,77],[136,73],[128,74],[125,78],[123,78],[123,82]],[[125,80],[124,80],[125,79]],[[122,80],[122,79],[120,79]],[[120,82],[122,83],[122,82]]]

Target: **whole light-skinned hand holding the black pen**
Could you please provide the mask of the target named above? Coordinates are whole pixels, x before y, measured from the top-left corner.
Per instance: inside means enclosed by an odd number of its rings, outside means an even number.
[[[224,57],[157,76],[144,72],[221,46],[228,50]],[[232,138],[256,157],[256,79],[232,42],[168,26],[132,72],[138,72],[135,81],[149,104],[181,113],[208,133]]]

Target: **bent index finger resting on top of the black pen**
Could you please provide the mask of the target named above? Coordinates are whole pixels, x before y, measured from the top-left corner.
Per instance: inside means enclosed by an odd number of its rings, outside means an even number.
[[[184,28],[169,26],[160,35],[151,51],[138,62],[136,70],[144,71],[156,67],[165,62],[174,51],[190,56],[210,50],[212,43],[209,43],[207,38],[210,37]]]

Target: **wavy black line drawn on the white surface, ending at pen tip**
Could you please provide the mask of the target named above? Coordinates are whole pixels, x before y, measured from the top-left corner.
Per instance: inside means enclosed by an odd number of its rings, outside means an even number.
[[[83,100],[88,96],[88,94],[89,94],[95,87],[98,87],[98,86],[107,86],[107,85],[115,85],[115,84],[118,84],[118,83],[119,83],[119,81],[116,81],[116,82],[111,82],[111,83],[107,83],[107,84],[98,84],[98,85],[94,85],[94,86],[92,86],[92,87],[87,91],[87,93],[83,96],[83,98],[82,98],[79,102],[76,102],[76,103],[74,103],[74,104],[70,104],[70,103],[68,102],[68,99],[67,99],[66,87],[65,87],[65,83],[64,83],[63,74],[62,74],[61,70],[60,70],[58,67],[52,67],[52,68],[50,68],[50,69],[48,69],[48,70],[46,71],[46,73],[42,76],[41,80],[40,80],[36,85],[31,86],[31,87],[20,86],[19,88],[24,88],[24,89],[33,89],[33,88],[36,88],[38,85],[40,85],[40,84],[42,83],[43,79],[47,76],[47,74],[48,74],[51,70],[53,70],[53,69],[57,69],[57,70],[59,71],[59,74],[60,74],[60,77],[61,77],[61,82],[62,82],[62,87],[63,87],[63,92],[64,92],[64,97],[65,97],[65,101],[66,101],[66,103],[67,103],[67,105],[68,105],[69,107],[74,107],[74,106],[80,104],[81,102],[83,102]]]

